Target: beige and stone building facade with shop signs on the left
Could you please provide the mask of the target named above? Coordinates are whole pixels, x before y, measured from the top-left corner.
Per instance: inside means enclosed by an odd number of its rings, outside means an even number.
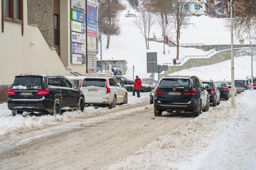
[[[97,24],[89,20],[97,21],[95,2],[1,0],[0,5],[0,84],[11,84],[20,73],[75,76],[72,72],[96,68]]]

